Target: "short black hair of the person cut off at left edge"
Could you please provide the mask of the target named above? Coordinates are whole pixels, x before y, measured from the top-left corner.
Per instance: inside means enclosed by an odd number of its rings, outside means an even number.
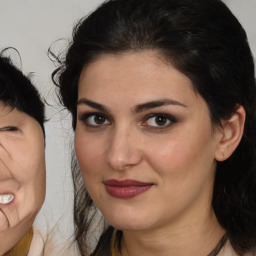
[[[11,62],[10,58],[0,53],[0,102],[11,108],[30,115],[41,125],[44,131],[44,103],[41,97],[29,80]]]

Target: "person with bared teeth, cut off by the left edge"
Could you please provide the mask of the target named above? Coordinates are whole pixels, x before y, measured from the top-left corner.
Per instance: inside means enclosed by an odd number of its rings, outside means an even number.
[[[45,197],[43,122],[37,90],[1,56],[0,255],[41,255],[32,224]]]

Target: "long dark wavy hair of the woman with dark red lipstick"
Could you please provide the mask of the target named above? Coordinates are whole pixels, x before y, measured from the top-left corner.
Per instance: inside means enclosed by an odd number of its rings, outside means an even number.
[[[53,73],[61,103],[76,129],[78,80],[82,68],[103,54],[153,50],[193,83],[220,125],[238,105],[246,111],[242,140],[217,163],[212,205],[239,253],[256,246],[256,85],[247,36],[220,0],[109,0],[81,20],[60,66]],[[88,254],[88,233],[97,212],[73,162],[76,240]],[[113,228],[103,227],[92,255],[105,255]]]

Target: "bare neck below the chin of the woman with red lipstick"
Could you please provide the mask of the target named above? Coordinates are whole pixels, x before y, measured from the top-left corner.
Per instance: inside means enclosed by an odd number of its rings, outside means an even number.
[[[122,256],[139,255],[179,255],[206,256],[216,247],[224,235],[214,213],[206,218],[195,218],[187,224],[165,225],[146,231],[123,231],[121,241]]]

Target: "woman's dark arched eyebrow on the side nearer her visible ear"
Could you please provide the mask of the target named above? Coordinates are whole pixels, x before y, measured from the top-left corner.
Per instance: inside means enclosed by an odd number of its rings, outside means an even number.
[[[179,101],[172,100],[172,99],[161,99],[161,100],[154,100],[154,101],[149,101],[145,102],[142,104],[139,104],[134,107],[132,110],[134,113],[140,113],[144,110],[151,109],[151,108],[157,108],[165,105],[176,105],[176,106],[181,106],[187,108],[187,106],[183,103],[180,103]]]

